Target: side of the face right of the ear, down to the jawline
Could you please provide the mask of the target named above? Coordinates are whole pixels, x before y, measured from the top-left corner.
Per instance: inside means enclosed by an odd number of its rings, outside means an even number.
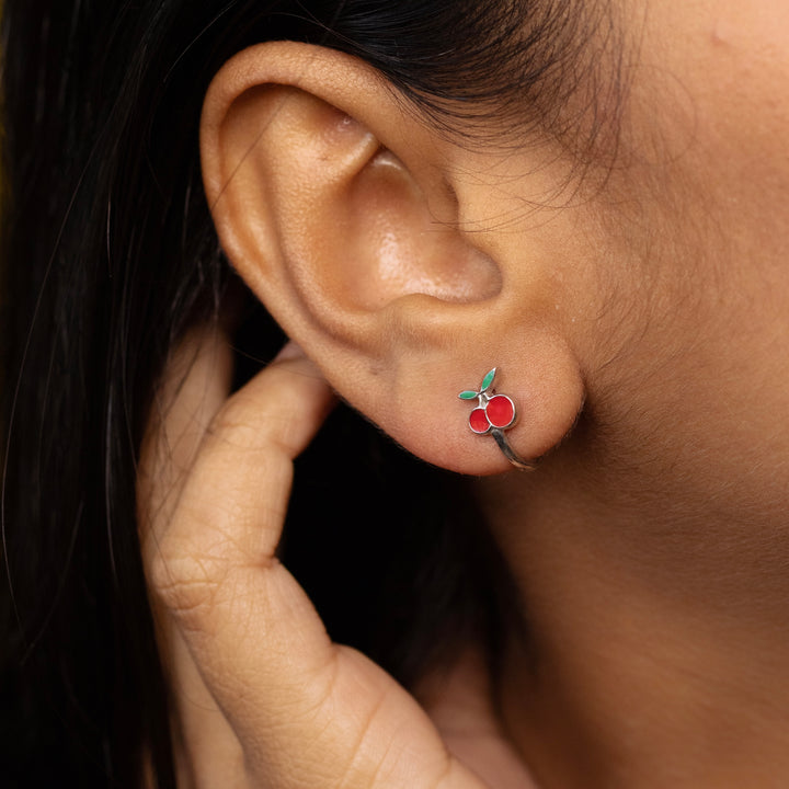
[[[789,5],[631,5],[619,159],[588,205],[598,312],[575,335],[605,460],[689,517],[782,524]]]

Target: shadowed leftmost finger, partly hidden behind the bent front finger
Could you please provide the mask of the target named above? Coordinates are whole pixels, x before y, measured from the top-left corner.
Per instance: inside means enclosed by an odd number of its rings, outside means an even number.
[[[146,563],[169,523],[197,449],[228,397],[232,348],[224,332],[199,327],[173,352],[150,409],[137,474],[137,510]],[[171,691],[179,786],[240,789],[243,753],[208,691],[185,641],[156,599],[157,642]]]

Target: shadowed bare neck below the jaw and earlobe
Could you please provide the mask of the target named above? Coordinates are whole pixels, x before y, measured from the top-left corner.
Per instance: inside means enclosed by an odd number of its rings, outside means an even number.
[[[787,528],[579,479],[557,462],[481,482],[529,626],[502,717],[538,784],[786,786]]]

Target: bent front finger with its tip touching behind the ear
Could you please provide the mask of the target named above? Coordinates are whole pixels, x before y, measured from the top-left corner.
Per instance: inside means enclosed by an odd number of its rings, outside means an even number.
[[[276,561],[293,458],[331,401],[305,358],[228,401],[159,535],[155,593],[267,786],[479,787],[402,688],[331,643]]]

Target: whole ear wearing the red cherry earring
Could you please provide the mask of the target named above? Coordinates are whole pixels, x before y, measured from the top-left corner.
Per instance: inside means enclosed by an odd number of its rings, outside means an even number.
[[[232,264],[340,396],[407,449],[465,473],[510,469],[458,399],[494,366],[519,455],[570,430],[583,387],[545,320],[547,281],[517,273],[523,240],[471,221],[491,210],[488,187],[458,175],[472,155],[378,72],[322,47],[251,47],[211,83],[201,146]]]

